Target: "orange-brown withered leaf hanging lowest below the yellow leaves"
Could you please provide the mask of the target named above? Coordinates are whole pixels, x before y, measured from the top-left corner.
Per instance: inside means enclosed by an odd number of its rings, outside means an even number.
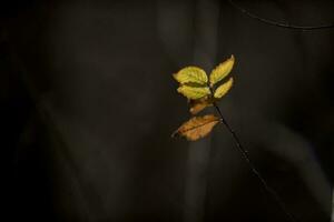
[[[171,137],[179,135],[195,141],[207,135],[218,122],[219,118],[213,114],[195,117],[181,124]]]

